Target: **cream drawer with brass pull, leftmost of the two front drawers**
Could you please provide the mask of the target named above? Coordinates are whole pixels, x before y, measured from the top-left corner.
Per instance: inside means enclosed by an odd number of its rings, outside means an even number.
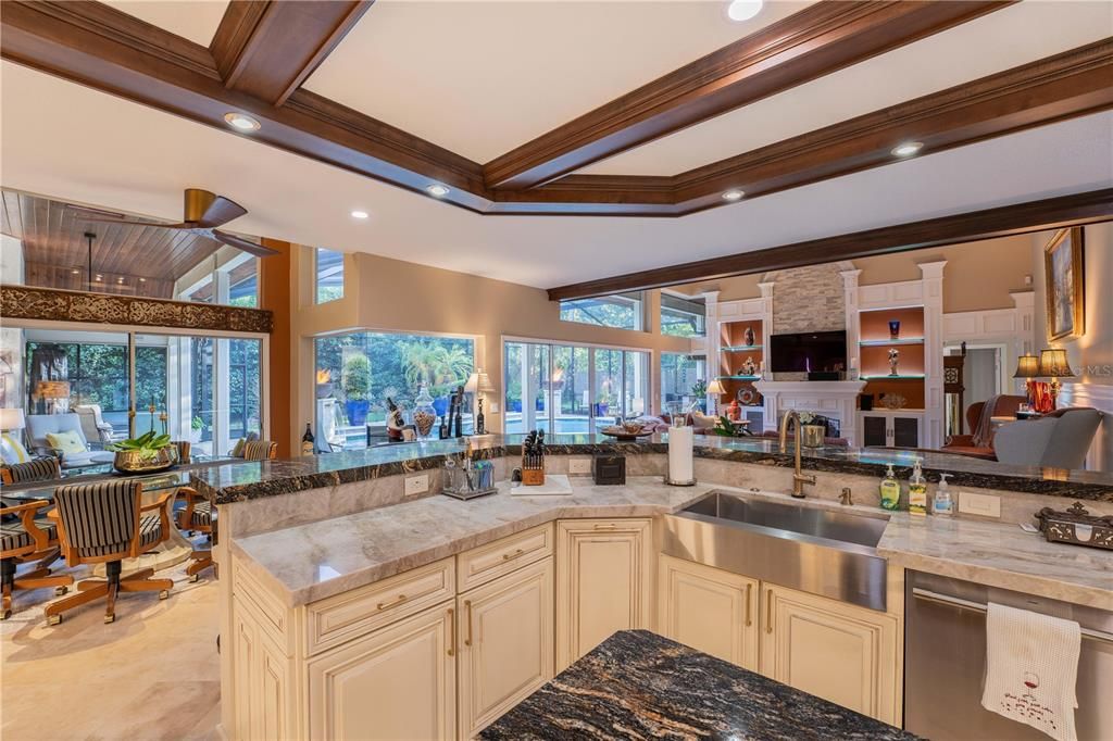
[[[444,559],[306,607],[306,655],[370,633],[455,596],[455,569]]]

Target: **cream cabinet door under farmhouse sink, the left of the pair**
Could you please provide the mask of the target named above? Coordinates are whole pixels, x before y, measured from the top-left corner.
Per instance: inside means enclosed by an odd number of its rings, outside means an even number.
[[[758,581],[663,554],[659,563],[660,633],[757,671]]]

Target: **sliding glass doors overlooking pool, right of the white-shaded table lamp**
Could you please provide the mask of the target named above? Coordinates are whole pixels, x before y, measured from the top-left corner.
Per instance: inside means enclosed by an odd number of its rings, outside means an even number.
[[[593,433],[648,411],[649,353],[506,342],[505,432]]]

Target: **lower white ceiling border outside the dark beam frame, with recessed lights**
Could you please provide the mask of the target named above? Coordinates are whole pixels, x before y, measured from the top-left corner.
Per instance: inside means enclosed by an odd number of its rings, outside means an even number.
[[[166,219],[203,187],[249,210],[237,231],[538,287],[1113,185],[1100,113],[679,219],[483,217],[10,62],[0,75],[4,187]]]

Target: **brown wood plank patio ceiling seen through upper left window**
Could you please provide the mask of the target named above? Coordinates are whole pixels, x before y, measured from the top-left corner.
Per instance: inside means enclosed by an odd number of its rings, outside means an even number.
[[[173,298],[175,280],[220,247],[188,231],[93,221],[87,211],[16,190],[0,191],[0,233],[22,241],[31,286]],[[97,235],[91,286],[86,233]]]

